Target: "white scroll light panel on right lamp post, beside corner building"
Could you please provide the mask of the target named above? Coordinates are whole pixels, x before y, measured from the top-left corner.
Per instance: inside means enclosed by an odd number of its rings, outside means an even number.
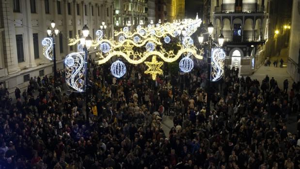
[[[225,52],[222,48],[211,49],[211,81],[218,81],[224,75]]]

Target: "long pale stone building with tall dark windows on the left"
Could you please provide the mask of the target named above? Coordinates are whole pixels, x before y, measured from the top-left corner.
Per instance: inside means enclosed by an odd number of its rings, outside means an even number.
[[[81,35],[86,24],[91,37],[105,21],[107,37],[113,35],[113,0],[1,0],[0,1],[0,82],[14,92],[25,89],[31,77],[53,73],[53,62],[42,53],[42,40],[52,20],[60,31],[56,36],[57,68],[77,46],[68,38]],[[95,52],[89,57],[94,58]]]

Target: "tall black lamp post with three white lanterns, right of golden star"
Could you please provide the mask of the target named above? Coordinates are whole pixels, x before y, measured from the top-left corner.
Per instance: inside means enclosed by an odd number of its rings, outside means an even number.
[[[213,44],[212,39],[212,33],[214,31],[214,26],[210,22],[210,24],[207,27],[208,30],[208,54],[207,54],[207,79],[206,79],[206,93],[207,93],[207,99],[206,99],[206,112],[210,113],[210,101],[211,101],[211,49]],[[201,35],[198,37],[199,43],[202,44],[204,37]],[[224,36],[221,34],[218,39],[219,45],[223,46],[224,43]]]

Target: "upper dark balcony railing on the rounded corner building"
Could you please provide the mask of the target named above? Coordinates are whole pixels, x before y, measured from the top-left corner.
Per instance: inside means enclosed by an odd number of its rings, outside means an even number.
[[[263,13],[264,6],[257,3],[243,3],[236,6],[235,3],[226,3],[221,6],[215,6],[215,13]]]

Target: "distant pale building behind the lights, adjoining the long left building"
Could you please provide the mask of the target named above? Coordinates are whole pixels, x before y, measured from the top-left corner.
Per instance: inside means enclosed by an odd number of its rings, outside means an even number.
[[[139,25],[140,20],[148,24],[148,9],[146,0],[115,0],[114,27],[119,30],[130,21],[132,28]]]

